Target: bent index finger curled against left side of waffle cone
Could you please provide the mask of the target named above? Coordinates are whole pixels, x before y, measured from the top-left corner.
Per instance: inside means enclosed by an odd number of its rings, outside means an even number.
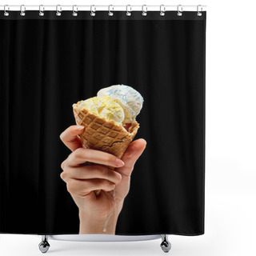
[[[70,126],[62,132],[60,138],[62,142],[72,151],[82,147],[79,134],[82,134],[84,126]]]

